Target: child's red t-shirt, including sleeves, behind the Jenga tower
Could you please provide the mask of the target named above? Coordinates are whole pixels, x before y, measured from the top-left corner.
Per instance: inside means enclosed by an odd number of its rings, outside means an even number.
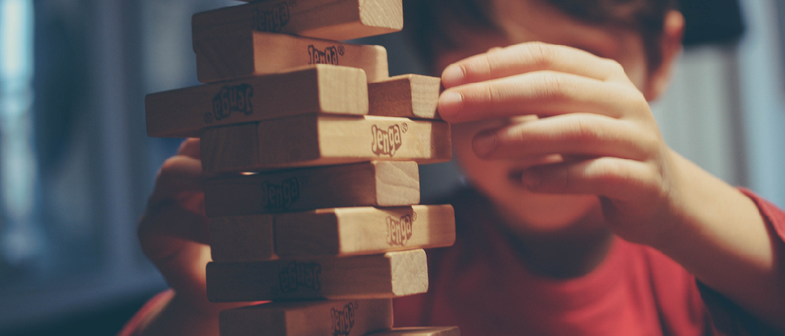
[[[743,192],[785,242],[785,212]],[[586,276],[532,275],[491,221],[486,199],[465,190],[451,203],[455,246],[429,251],[429,292],[394,301],[396,327],[458,326],[462,336],[775,334],[659,251],[623,239]],[[120,335],[133,334],[165,299],[154,298]]]

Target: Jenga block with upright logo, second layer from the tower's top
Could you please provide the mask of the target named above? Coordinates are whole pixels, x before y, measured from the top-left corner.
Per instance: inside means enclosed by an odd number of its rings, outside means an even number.
[[[265,75],[309,64],[333,64],[365,71],[368,82],[389,78],[387,50],[258,31],[205,35],[194,41],[199,82]],[[438,93],[436,93],[438,94]]]

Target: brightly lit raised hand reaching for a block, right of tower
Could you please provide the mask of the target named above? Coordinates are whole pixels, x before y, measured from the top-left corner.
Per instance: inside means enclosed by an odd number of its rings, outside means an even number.
[[[447,67],[440,115],[449,122],[547,117],[480,132],[484,159],[561,154],[579,160],[524,172],[533,192],[602,199],[612,229],[652,243],[672,214],[671,152],[640,90],[614,60],[568,46],[524,43]]]

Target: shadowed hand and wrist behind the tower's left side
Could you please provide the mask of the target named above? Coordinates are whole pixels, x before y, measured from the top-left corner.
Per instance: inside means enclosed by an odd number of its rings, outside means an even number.
[[[199,139],[184,141],[158,173],[138,233],[144,254],[174,296],[144,334],[217,334],[218,312],[248,305],[207,301],[210,220],[204,213],[203,181]]]

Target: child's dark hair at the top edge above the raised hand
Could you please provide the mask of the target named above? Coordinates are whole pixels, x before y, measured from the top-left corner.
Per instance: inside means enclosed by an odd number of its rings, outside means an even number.
[[[547,3],[587,24],[639,32],[649,68],[656,68],[662,62],[659,38],[663,34],[663,21],[668,11],[677,6],[676,0],[527,1]],[[460,23],[478,31],[498,32],[491,14],[491,0],[404,0],[403,3],[407,17],[404,30],[431,70],[437,51],[460,46],[460,42],[445,31],[449,24]]]

